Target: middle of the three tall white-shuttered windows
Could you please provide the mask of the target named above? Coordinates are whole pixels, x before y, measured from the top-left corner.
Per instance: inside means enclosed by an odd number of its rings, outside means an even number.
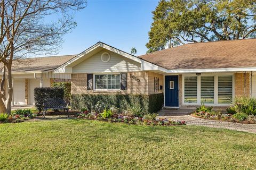
[[[201,103],[214,104],[214,76],[201,76]]]

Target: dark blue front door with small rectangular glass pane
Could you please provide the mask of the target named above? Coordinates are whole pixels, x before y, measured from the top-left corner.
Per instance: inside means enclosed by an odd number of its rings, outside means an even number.
[[[178,75],[165,76],[165,106],[179,107],[179,77]]]

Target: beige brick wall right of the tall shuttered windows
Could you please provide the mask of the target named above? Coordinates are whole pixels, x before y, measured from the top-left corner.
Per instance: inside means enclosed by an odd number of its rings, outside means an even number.
[[[245,74],[245,88],[244,73],[235,73],[235,97],[241,97],[244,95],[250,96],[250,73]]]

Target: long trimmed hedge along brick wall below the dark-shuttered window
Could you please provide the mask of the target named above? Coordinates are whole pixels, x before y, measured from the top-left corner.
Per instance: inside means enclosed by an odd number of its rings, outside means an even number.
[[[147,113],[154,113],[163,107],[164,95],[102,95],[102,94],[73,94],[71,95],[71,107],[74,110],[88,108],[97,103],[104,103],[106,107],[115,106],[121,111],[126,111],[130,106],[139,105]]]

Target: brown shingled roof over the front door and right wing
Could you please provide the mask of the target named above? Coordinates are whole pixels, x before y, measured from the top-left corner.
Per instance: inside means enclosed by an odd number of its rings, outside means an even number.
[[[256,39],[190,43],[139,57],[169,70],[256,67]]]

